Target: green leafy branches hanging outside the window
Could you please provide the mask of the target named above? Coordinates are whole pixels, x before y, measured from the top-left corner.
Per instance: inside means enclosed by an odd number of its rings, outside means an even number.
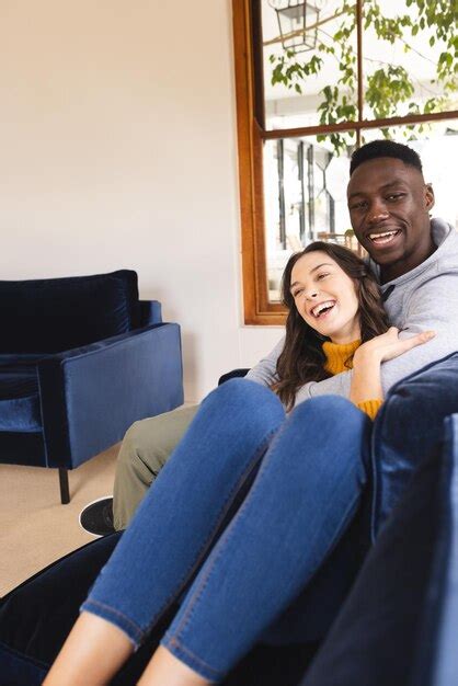
[[[411,45],[412,37],[421,35],[424,44],[439,46],[435,78],[431,85],[434,92],[422,104],[414,99],[415,82],[402,65],[378,61],[371,69],[365,69],[364,101],[370,117],[383,119],[399,115],[399,106],[404,105],[410,114],[431,114],[449,108],[453,96],[458,92],[458,36],[456,25],[458,5],[456,0],[405,0],[411,12],[399,13],[396,18],[382,14],[379,0],[365,0],[364,30],[374,30],[377,39],[393,45],[401,43],[405,53],[414,52],[419,59],[428,59]],[[330,55],[339,64],[335,85],[325,85],[319,91],[322,101],[318,106],[320,124],[337,124],[355,121],[357,112],[357,59],[353,45],[356,35],[356,9],[353,2],[343,0],[335,10],[339,25],[333,35],[318,28],[318,44],[314,54],[307,60],[299,59],[293,50],[271,55],[273,65],[272,84],[282,83],[297,93],[302,92],[305,79],[320,75],[324,60]],[[423,42],[423,41],[422,41]],[[304,56],[304,54],[302,54]],[[370,60],[374,62],[374,60]],[[440,95],[437,95],[439,92]],[[407,138],[422,133],[425,124],[405,127]],[[329,134],[336,153],[354,142],[354,132]],[[382,129],[389,137],[389,130]],[[318,140],[324,140],[318,136]]]

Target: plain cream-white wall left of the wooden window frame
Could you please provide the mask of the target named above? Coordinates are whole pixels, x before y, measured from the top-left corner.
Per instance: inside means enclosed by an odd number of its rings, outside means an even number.
[[[0,278],[135,268],[187,400],[250,366],[230,0],[0,3]]]

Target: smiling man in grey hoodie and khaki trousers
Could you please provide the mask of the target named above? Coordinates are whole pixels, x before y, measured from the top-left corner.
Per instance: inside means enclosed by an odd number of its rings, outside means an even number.
[[[376,140],[357,150],[351,162],[347,190],[353,229],[370,255],[391,323],[400,336],[433,329],[427,345],[382,365],[382,387],[458,350],[458,233],[440,219],[431,219],[434,193],[425,183],[417,153],[408,146]],[[271,386],[282,340],[250,370],[248,378]],[[348,397],[352,371],[306,384],[296,402],[313,396]],[[193,419],[196,407],[137,422],[119,451],[114,514],[124,528]],[[196,478],[198,476],[196,475]]]

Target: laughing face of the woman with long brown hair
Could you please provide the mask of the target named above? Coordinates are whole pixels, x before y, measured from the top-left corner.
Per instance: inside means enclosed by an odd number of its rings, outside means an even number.
[[[333,343],[360,338],[355,284],[325,252],[309,252],[296,262],[290,291],[302,319]]]

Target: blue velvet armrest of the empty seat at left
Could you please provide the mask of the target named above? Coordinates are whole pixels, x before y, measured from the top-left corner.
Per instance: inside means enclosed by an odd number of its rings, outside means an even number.
[[[38,363],[48,467],[75,468],[183,403],[180,327],[153,324]]]

